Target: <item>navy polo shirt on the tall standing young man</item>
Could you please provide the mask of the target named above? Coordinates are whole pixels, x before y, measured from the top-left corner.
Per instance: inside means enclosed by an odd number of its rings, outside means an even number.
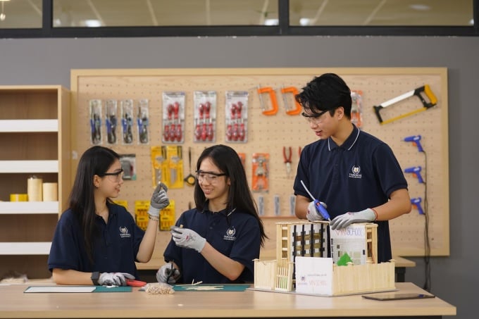
[[[309,198],[301,180],[316,199],[328,205],[330,217],[385,204],[407,182],[390,146],[356,126],[337,146],[331,137],[304,147],[294,180],[294,194]],[[378,224],[378,261],[392,258],[389,223]]]

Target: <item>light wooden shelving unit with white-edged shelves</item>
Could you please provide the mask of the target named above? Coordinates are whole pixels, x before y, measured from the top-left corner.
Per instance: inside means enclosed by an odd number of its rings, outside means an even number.
[[[59,85],[0,86],[0,149],[0,275],[26,267],[35,277],[46,265],[29,258],[48,256],[71,187],[70,92]],[[31,175],[57,182],[58,201],[9,201],[10,194],[27,193]]]

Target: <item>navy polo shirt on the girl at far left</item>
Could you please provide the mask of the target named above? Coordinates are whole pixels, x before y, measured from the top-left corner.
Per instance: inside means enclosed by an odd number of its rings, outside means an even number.
[[[86,273],[130,273],[138,278],[135,258],[144,231],[123,206],[107,204],[108,223],[97,216],[99,237],[94,239],[94,264],[90,263],[83,244],[83,232],[77,218],[68,209],[62,215],[51,243],[48,266]]]

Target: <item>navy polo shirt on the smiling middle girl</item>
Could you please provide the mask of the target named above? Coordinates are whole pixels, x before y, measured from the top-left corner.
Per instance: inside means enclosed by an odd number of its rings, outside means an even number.
[[[259,258],[261,246],[261,232],[254,216],[239,210],[228,215],[225,210],[212,213],[193,208],[182,213],[176,225],[194,230],[221,254],[242,263],[244,270],[236,283],[254,282],[253,259]],[[178,283],[191,284],[193,280],[204,284],[232,283],[196,250],[178,247],[173,239],[163,256],[165,261],[174,261],[180,268],[182,276]]]

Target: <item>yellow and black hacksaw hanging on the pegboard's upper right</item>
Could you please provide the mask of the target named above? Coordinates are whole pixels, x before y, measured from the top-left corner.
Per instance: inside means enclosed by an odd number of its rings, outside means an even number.
[[[425,96],[428,97],[429,102],[425,101],[425,99],[423,97],[423,94],[425,94]],[[414,96],[414,95],[418,96],[418,98],[421,100],[421,102],[423,103],[423,108],[419,108],[418,110],[414,110],[414,111],[411,111],[411,112],[408,112],[408,113],[405,113],[405,114],[402,114],[402,115],[398,115],[394,118],[390,118],[389,120],[382,120],[381,115],[379,113],[382,110],[382,108],[386,108],[387,106],[395,104],[399,101],[402,101],[402,100],[407,99],[407,98],[409,98],[411,96]],[[429,108],[435,106],[436,104],[437,104],[437,98],[434,95],[433,91],[431,91],[429,85],[423,85],[422,87],[418,87],[417,89],[413,89],[412,91],[409,91],[409,92],[406,92],[406,93],[401,94],[399,96],[396,96],[396,97],[394,97],[394,99],[390,99],[388,101],[385,101],[378,106],[373,106],[373,108],[374,108],[374,111],[376,113],[376,117],[378,117],[379,123],[382,125],[382,124],[391,123],[394,120],[399,120],[401,118],[406,118],[406,116],[409,116],[409,115],[413,115],[413,114],[416,114],[416,113],[419,113],[419,112],[422,112],[422,111],[426,111]]]

